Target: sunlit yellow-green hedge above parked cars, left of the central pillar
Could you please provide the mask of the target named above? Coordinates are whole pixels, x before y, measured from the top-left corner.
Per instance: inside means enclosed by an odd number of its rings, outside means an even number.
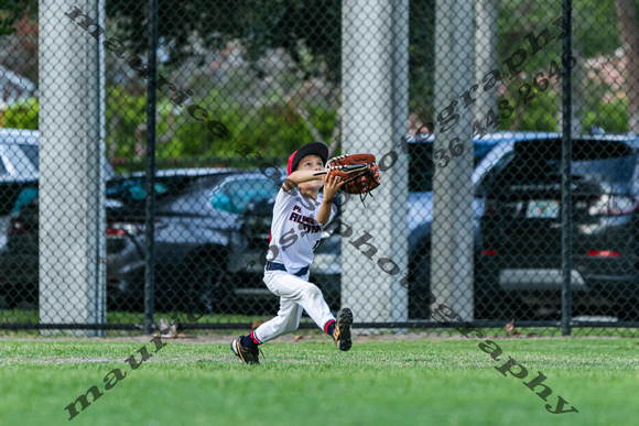
[[[156,159],[160,163],[173,165],[250,165],[261,162],[252,156],[247,161],[236,150],[245,144],[251,146],[263,157],[285,159],[300,145],[312,142],[308,123],[292,107],[282,103],[264,105],[254,108],[238,102],[219,102],[219,92],[212,90],[206,99],[195,99],[206,110],[208,119],[196,121],[185,107],[176,108],[166,97],[158,99],[158,146]],[[305,105],[325,141],[333,134],[337,113],[318,103]],[[2,124],[7,128],[37,129],[39,103],[36,98],[12,105],[4,113]],[[176,112],[173,122],[171,113]],[[130,94],[120,86],[107,88],[107,146],[112,157],[109,160],[142,160],[147,144],[144,123],[147,122],[145,92]],[[198,111],[197,117],[206,117]],[[228,138],[214,135],[207,128],[207,121],[219,121],[230,131]],[[173,135],[162,142],[173,129]],[[138,151],[137,151],[138,150]],[[263,162],[263,161],[262,161]]]

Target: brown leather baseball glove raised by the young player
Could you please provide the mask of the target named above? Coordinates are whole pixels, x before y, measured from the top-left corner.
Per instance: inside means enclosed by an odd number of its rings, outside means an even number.
[[[361,201],[380,184],[379,167],[372,154],[339,155],[326,163],[328,176],[338,176],[346,182],[340,188],[347,194],[361,195]]]

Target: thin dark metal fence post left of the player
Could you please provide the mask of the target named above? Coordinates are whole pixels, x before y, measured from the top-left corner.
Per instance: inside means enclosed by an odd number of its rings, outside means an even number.
[[[158,0],[149,0],[149,81],[147,94],[147,263],[144,267],[144,329],[153,332],[155,280],[155,85],[158,52]]]

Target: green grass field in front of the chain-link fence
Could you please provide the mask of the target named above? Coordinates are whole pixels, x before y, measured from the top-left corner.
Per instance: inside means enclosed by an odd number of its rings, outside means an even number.
[[[144,345],[144,341],[147,343]],[[339,352],[327,338],[270,342],[261,365],[226,343],[166,340],[138,369],[124,359],[154,343],[0,341],[1,425],[631,425],[639,418],[639,340],[360,338]],[[509,357],[522,379],[495,369]],[[105,376],[113,386],[106,390]],[[513,368],[518,373],[520,370]],[[542,372],[548,402],[523,382]],[[102,395],[68,420],[96,385]],[[557,395],[578,413],[551,414]],[[90,403],[89,396],[88,402]],[[78,409],[80,404],[77,404]]]

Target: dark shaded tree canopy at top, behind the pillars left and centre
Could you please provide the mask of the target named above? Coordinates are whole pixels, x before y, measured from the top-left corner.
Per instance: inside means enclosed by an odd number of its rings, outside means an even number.
[[[37,0],[14,1],[9,20],[14,21],[30,13],[37,17]],[[105,36],[113,36],[126,46],[126,54],[147,56],[148,2],[132,0],[106,0],[107,24]],[[342,1],[340,0],[159,0],[159,44],[169,48],[164,70],[175,70],[188,61],[191,64],[208,65],[205,57],[210,52],[224,51],[229,42],[239,42],[243,59],[253,72],[253,80],[269,76],[260,59],[270,52],[283,48],[294,62],[295,81],[269,83],[282,94],[275,103],[293,108],[307,122],[313,138],[320,139],[314,128],[304,86],[313,86],[322,79],[327,95],[313,99],[337,110],[342,72]],[[410,110],[418,112],[422,121],[432,113],[433,103],[433,29],[434,0],[410,2]],[[366,15],[360,25],[366,25]],[[390,47],[390,46],[389,46]],[[196,61],[193,61],[193,59]],[[361,57],[361,61],[367,61]],[[269,79],[269,81],[271,81]],[[339,140],[339,122],[333,135],[332,152]]]

